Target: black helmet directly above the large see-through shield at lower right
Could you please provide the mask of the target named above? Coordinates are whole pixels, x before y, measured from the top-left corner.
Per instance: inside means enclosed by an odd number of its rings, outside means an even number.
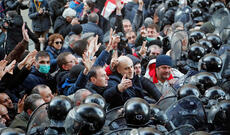
[[[178,90],[178,98],[181,99],[186,96],[195,95],[196,97],[200,97],[199,89],[191,84],[185,84]]]

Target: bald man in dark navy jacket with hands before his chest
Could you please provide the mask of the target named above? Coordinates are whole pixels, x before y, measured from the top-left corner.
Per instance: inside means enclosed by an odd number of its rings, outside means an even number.
[[[103,96],[111,107],[116,107],[123,105],[132,97],[146,98],[150,96],[158,101],[161,93],[146,78],[134,76],[132,60],[127,56],[120,56],[116,73],[109,76],[108,87]]]

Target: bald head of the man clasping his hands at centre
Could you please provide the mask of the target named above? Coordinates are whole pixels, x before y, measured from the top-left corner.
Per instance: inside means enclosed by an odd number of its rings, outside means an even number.
[[[128,79],[132,79],[134,75],[133,61],[127,56],[118,58],[117,72],[122,76],[126,74]]]

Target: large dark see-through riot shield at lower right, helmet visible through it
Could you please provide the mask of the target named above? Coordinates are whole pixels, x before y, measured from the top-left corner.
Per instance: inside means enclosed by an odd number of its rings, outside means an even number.
[[[198,129],[207,123],[203,104],[196,96],[186,96],[178,100],[165,111],[165,114],[175,127],[189,124]]]

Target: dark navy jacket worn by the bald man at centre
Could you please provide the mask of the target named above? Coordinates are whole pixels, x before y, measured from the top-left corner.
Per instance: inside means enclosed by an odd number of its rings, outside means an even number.
[[[156,101],[161,97],[161,93],[156,86],[149,80],[134,76],[132,79],[133,86],[126,89],[124,92],[118,90],[118,84],[120,84],[122,76],[118,73],[109,76],[108,87],[103,93],[103,96],[110,107],[122,106],[128,99],[132,97],[144,98],[148,96],[145,91]]]

